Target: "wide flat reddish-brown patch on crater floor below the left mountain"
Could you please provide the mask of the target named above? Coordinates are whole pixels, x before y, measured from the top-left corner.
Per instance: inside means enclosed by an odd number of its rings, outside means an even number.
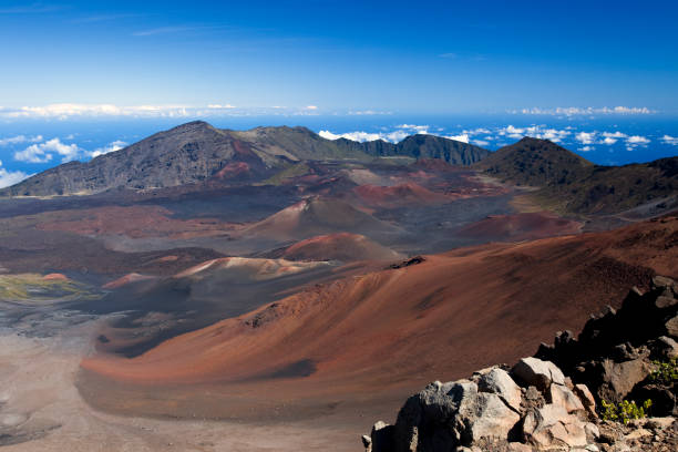
[[[189,238],[227,235],[234,226],[215,219],[176,219],[160,206],[110,206],[42,214],[38,229],[80,235],[126,235],[131,238]]]

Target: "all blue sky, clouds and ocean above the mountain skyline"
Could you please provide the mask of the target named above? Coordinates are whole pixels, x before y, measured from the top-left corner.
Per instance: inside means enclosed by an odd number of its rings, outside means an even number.
[[[0,0],[0,186],[202,119],[678,154],[676,1]]]

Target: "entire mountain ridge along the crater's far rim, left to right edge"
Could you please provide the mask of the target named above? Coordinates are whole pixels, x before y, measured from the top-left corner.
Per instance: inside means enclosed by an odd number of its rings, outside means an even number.
[[[639,216],[678,208],[678,157],[645,164],[599,166],[547,140],[525,137],[492,153],[434,135],[411,135],[398,144],[326,140],[306,127],[232,131],[203,121],[156,133],[90,162],[59,165],[3,189],[0,196],[95,194],[187,184],[273,184],[301,177],[307,163],[346,165],[381,161],[409,164],[442,160],[516,185],[562,214],[612,214],[633,208]]]

